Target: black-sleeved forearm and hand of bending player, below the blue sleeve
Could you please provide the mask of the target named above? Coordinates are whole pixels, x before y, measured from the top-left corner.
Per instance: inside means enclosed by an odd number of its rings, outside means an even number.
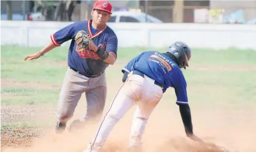
[[[185,132],[187,137],[197,142],[203,143],[203,141],[193,133],[193,124],[191,121],[191,112],[190,112],[189,105],[179,104],[179,112],[180,112],[180,115],[182,116],[182,121],[185,127]]]

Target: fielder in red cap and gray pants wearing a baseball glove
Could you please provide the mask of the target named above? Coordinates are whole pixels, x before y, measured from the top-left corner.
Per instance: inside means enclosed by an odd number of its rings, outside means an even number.
[[[112,14],[111,9],[109,2],[95,2],[91,10],[92,19],[77,21],[59,29],[50,36],[50,42],[45,48],[25,57],[25,60],[38,59],[63,42],[71,40],[69,68],[59,94],[56,133],[65,131],[84,92],[87,112],[70,124],[69,131],[89,121],[98,122],[101,118],[106,100],[105,69],[109,64],[114,64],[118,50],[118,38],[106,25]]]

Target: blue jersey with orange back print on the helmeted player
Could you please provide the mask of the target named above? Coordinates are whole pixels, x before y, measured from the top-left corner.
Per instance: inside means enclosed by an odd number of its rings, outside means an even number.
[[[168,56],[158,51],[145,51],[127,63],[122,72],[130,73],[134,70],[141,71],[147,77],[162,84],[163,92],[169,87],[174,88],[176,103],[188,104],[187,83],[182,70]]]

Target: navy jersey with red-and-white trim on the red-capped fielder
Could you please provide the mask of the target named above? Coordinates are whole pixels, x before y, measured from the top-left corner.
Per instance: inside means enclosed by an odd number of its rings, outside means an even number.
[[[106,52],[112,53],[115,58],[118,51],[118,38],[114,31],[105,25],[102,30],[96,30],[92,27],[92,20],[83,20],[74,22],[51,35],[51,41],[60,46],[63,42],[71,40],[68,51],[68,66],[74,68],[89,76],[99,75],[104,72],[108,63],[100,59],[100,57],[92,50],[79,50],[74,38],[80,30],[86,31],[93,38],[96,46],[104,49]]]

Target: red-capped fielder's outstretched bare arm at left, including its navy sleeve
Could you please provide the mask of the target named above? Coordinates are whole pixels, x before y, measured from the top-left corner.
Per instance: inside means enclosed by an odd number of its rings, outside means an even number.
[[[72,37],[74,36],[75,30],[76,30],[76,23],[70,24],[58,30],[57,32],[55,32],[50,36],[51,41],[46,47],[42,48],[40,51],[38,51],[37,53],[34,53],[33,55],[26,56],[24,60],[26,61],[28,58],[29,60],[40,58],[45,53],[63,44],[63,42],[66,42],[72,39]]]

